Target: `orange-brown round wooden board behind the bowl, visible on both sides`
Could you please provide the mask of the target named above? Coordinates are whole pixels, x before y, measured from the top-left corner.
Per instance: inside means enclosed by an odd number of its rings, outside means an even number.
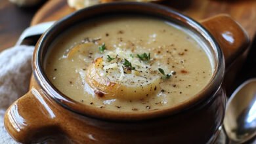
[[[230,14],[245,28],[252,40],[255,37],[256,0],[169,0],[160,4],[177,9],[196,20],[220,13]],[[60,20],[74,11],[68,7],[66,0],[51,0],[38,10],[31,25]]]

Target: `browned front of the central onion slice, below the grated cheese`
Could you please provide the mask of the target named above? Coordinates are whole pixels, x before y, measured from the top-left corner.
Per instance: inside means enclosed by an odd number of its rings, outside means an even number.
[[[139,83],[140,76],[125,74],[129,82],[111,81],[113,75],[102,75],[102,69],[97,63],[92,63],[87,70],[86,81],[95,90],[95,94],[106,99],[142,99],[153,95],[160,90],[160,77],[148,79],[147,82]],[[140,79],[142,79],[140,77]]]

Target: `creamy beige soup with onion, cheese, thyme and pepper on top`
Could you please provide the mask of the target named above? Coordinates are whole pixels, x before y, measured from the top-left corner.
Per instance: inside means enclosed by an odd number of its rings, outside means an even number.
[[[111,16],[68,29],[51,45],[47,77],[66,96],[112,111],[153,111],[196,96],[213,66],[199,37],[165,20]]]

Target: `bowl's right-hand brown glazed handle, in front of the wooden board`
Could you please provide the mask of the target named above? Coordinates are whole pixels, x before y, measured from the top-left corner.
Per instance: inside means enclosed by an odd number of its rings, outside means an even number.
[[[249,36],[228,14],[219,14],[201,21],[213,35],[224,53],[225,63],[231,65],[249,46]]]

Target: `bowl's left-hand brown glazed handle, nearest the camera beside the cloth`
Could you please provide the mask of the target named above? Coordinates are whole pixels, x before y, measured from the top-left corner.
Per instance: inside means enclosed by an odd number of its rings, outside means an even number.
[[[45,141],[47,137],[57,133],[55,115],[47,100],[49,101],[32,86],[27,94],[7,109],[5,128],[16,141],[36,143],[38,140]]]

